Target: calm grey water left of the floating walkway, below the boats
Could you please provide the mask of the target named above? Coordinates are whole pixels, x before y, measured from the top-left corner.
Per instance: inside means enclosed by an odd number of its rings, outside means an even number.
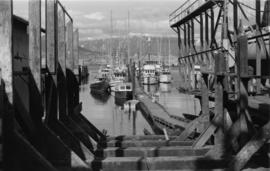
[[[94,78],[90,70],[90,78]],[[82,113],[100,130],[107,130],[110,136],[144,135],[144,129],[153,133],[150,125],[140,111],[124,110],[124,99],[116,99],[114,93],[109,96],[90,94],[89,82],[80,88],[80,100],[83,102]]]

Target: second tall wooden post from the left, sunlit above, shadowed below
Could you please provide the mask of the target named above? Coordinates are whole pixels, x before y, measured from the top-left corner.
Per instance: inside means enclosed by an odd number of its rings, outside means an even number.
[[[30,115],[41,124],[41,1],[29,0],[29,100]]]

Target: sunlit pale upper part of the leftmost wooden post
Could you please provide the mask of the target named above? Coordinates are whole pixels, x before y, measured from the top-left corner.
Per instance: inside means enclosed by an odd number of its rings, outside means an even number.
[[[11,0],[0,1],[0,68],[10,104],[13,104],[12,8]]]

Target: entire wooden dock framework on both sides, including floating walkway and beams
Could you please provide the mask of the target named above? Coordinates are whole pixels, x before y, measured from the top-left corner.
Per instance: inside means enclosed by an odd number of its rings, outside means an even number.
[[[200,115],[187,122],[155,102],[130,57],[133,98],[155,134],[115,137],[82,113],[89,74],[73,17],[60,0],[43,2],[29,0],[25,20],[13,14],[13,0],[0,0],[0,170],[269,170],[269,0],[188,0],[174,10],[179,89],[200,99]],[[244,27],[244,7],[255,25]]]

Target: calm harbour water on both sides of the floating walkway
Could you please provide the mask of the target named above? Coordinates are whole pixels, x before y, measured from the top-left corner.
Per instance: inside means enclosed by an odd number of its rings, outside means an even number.
[[[112,95],[100,96],[90,93],[89,85],[97,74],[97,70],[90,70],[89,82],[80,89],[80,100],[83,102],[82,113],[98,129],[107,130],[108,135],[144,135],[143,130],[153,132],[140,111],[125,111],[123,103],[115,101]],[[174,77],[176,78],[177,75]],[[200,110],[198,101],[193,97],[180,94],[176,87],[177,79],[173,84],[158,86],[144,86],[145,92],[155,96],[158,103],[172,114],[181,116],[182,113],[197,113]]]

